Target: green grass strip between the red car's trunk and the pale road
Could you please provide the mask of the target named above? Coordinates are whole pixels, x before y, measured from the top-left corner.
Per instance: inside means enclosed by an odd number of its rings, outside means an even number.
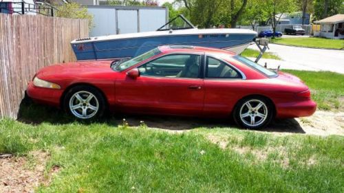
[[[298,76],[310,87],[312,99],[321,110],[344,109],[344,75],[330,71],[283,70]]]

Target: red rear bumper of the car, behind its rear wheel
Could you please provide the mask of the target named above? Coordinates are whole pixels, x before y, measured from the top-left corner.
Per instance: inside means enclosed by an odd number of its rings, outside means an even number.
[[[307,117],[316,111],[316,103],[312,100],[277,104],[277,118]]]

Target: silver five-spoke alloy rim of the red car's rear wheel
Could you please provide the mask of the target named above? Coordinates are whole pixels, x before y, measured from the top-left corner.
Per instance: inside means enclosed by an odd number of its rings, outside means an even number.
[[[248,100],[240,109],[240,119],[248,126],[259,126],[268,117],[268,108],[261,100]]]

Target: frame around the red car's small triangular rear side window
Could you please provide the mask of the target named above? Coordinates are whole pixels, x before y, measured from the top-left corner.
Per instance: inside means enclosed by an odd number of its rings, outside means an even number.
[[[227,65],[228,67],[230,67],[231,69],[235,70],[237,72],[237,74],[240,76],[240,77],[218,77],[218,78],[208,78],[207,77],[207,68],[208,68],[208,64],[207,64],[207,58],[214,58],[216,60],[219,60],[220,62],[224,63],[225,65]],[[204,56],[204,67],[202,68],[203,69],[203,78],[204,80],[246,80],[246,76],[245,74],[239,70],[237,67],[233,66],[232,64],[226,62],[225,60],[223,60],[222,58],[218,58],[214,55],[211,55],[211,54],[205,54]]]

